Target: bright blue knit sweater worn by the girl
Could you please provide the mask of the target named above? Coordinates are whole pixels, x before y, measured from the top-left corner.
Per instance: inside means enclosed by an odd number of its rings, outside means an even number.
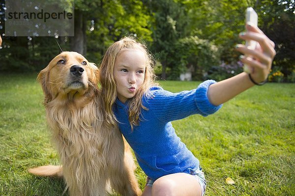
[[[153,180],[171,173],[185,172],[199,168],[195,158],[185,144],[177,137],[171,121],[192,114],[207,116],[221,108],[212,105],[207,98],[207,89],[215,81],[208,80],[197,89],[172,93],[159,86],[150,88],[152,97],[144,97],[139,126],[128,121],[128,101],[118,99],[114,106],[119,129],[134,150],[139,166]]]

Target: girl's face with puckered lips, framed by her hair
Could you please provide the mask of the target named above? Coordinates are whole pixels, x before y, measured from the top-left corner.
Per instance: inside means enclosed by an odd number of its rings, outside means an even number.
[[[114,77],[117,83],[117,97],[125,103],[135,96],[144,83],[146,56],[140,50],[124,50],[116,58]]]

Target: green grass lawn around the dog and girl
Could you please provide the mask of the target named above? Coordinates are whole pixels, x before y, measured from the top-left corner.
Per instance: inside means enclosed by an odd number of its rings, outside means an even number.
[[[62,179],[27,169],[59,164],[36,74],[0,75],[0,196],[60,196]],[[173,92],[199,82],[160,82]],[[295,84],[255,86],[217,113],[173,122],[200,160],[206,196],[295,196]],[[138,168],[141,188],[146,176]],[[227,177],[234,185],[225,183]],[[64,195],[67,195],[65,193]]]

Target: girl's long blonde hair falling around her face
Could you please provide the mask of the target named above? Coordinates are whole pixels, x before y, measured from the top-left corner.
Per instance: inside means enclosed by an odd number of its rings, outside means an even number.
[[[149,88],[155,84],[155,74],[153,72],[154,61],[152,55],[148,52],[145,44],[136,41],[132,37],[124,37],[113,43],[107,50],[100,65],[100,84],[101,98],[104,103],[102,112],[104,120],[108,126],[116,126],[117,119],[113,112],[113,105],[117,99],[117,85],[114,78],[114,66],[117,56],[124,50],[140,50],[146,56],[145,79],[142,86],[138,89],[136,95],[130,99],[129,103],[129,122],[131,128],[139,124],[141,110],[147,110],[142,104],[143,96],[149,96]]]

